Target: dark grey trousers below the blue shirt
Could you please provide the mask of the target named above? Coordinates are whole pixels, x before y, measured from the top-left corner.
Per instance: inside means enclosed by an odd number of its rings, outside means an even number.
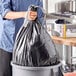
[[[0,49],[0,76],[12,76],[11,59],[12,53]]]

